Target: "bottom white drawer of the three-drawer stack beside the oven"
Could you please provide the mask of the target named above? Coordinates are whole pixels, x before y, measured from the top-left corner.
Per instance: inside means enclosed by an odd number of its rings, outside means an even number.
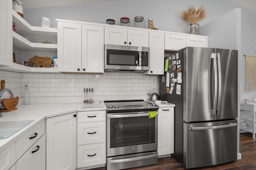
[[[77,147],[77,167],[106,164],[106,143]]]

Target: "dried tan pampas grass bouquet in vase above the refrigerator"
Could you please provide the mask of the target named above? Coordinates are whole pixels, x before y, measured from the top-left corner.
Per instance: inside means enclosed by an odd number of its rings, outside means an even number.
[[[190,6],[188,7],[188,10],[183,10],[181,16],[188,23],[197,23],[198,21],[206,18],[206,8],[204,6],[200,6],[196,11],[194,6]]]

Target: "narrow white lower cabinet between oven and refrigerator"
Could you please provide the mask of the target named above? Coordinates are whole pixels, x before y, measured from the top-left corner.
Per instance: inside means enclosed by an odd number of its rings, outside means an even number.
[[[158,156],[174,153],[174,107],[158,109]]]

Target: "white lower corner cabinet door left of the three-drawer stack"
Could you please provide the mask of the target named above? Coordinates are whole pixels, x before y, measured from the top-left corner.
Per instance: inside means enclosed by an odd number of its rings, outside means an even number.
[[[76,112],[46,119],[46,169],[76,169]]]

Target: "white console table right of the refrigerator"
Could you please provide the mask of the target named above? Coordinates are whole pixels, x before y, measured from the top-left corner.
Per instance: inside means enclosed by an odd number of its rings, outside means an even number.
[[[255,139],[256,133],[256,102],[250,104],[240,103],[240,129],[252,133]]]

